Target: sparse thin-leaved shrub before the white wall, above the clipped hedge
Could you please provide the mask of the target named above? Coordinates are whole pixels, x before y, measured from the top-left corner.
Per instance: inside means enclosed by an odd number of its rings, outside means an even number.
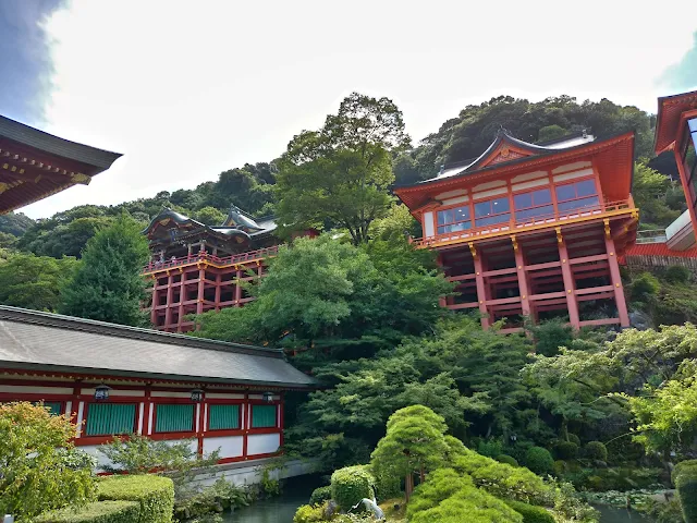
[[[174,482],[174,494],[179,500],[191,497],[191,482],[196,474],[215,465],[220,458],[219,451],[200,455],[192,450],[192,441],[154,440],[146,436],[132,434],[127,438],[114,437],[110,442],[99,446],[109,462],[107,472],[114,474],[148,474],[157,470]]]

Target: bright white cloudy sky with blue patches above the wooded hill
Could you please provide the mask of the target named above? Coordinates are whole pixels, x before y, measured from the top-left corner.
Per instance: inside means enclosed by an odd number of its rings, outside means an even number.
[[[39,218],[270,161],[354,90],[415,142],[503,94],[656,112],[697,87],[697,3],[0,0],[0,113],[124,155]]]

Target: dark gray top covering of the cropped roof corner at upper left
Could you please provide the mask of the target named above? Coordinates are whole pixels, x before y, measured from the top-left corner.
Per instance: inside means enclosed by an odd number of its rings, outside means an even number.
[[[52,155],[97,167],[100,172],[109,169],[111,163],[121,157],[119,153],[111,153],[110,150],[98,149],[88,145],[71,142],[70,139],[60,138],[1,114],[0,136],[45,150]]]

